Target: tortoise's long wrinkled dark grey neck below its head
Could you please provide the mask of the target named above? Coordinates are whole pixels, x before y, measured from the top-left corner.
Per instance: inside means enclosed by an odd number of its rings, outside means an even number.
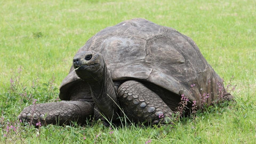
[[[115,120],[119,112],[117,94],[104,60],[102,60],[101,64],[101,67],[97,71],[91,73],[92,78],[80,78],[89,84],[91,96],[100,112],[109,120]]]

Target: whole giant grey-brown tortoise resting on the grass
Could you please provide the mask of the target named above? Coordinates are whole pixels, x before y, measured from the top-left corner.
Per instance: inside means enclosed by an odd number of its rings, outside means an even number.
[[[199,102],[200,93],[209,93],[210,104],[218,81],[189,37],[146,19],[126,20],[99,31],[78,50],[59,89],[62,101],[28,106],[19,118],[83,124],[102,115],[115,121],[124,112],[130,120],[157,124],[159,116],[177,111],[182,94]]]

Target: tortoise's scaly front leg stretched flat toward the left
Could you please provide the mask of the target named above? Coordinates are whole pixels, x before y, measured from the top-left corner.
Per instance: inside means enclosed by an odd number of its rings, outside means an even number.
[[[39,121],[47,124],[70,124],[71,121],[85,124],[86,118],[93,116],[94,104],[83,101],[60,101],[30,105],[23,109],[18,118],[36,125]],[[32,116],[33,115],[33,116]]]

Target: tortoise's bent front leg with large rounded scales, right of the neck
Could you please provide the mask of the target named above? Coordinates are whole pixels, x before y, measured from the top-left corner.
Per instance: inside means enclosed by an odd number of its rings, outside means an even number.
[[[151,124],[164,124],[167,117],[171,118],[172,110],[153,91],[138,81],[126,81],[118,89],[121,108],[133,121],[147,121]]]

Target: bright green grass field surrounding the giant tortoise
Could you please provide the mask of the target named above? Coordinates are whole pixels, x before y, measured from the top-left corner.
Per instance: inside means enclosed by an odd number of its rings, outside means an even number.
[[[0,143],[256,143],[255,6],[255,0],[0,1]],[[191,118],[172,129],[131,125],[109,134],[109,127],[94,122],[83,127],[48,125],[40,128],[39,136],[34,126],[19,126],[17,133],[7,134],[6,123],[13,125],[34,98],[38,103],[57,101],[73,56],[91,36],[138,17],[192,38],[221,77],[228,81],[234,75],[236,102],[197,113],[196,135]],[[20,66],[21,84],[11,90],[10,79],[13,73],[18,77]],[[48,83],[53,73],[55,81]]]

